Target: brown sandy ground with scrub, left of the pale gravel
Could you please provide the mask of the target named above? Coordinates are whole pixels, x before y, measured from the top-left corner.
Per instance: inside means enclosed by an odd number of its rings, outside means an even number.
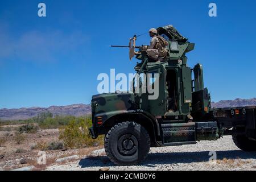
[[[15,128],[19,126],[14,125],[8,127]],[[48,165],[55,163],[56,159],[72,155],[84,156],[90,151],[98,149],[98,147],[88,147],[82,149],[64,148],[63,150],[44,151],[46,152],[47,156],[47,164],[38,165],[37,160],[40,157],[39,150],[32,150],[31,146],[34,146],[36,143],[48,143],[58,141],[59,130],[39,130],[37,133],[22,135],[24,136],[24,140],[18,144],[15,138],[16,131],[0,131],[0,138],[6,139],[6,142],[0,146],[0,171],[11,170],[31,165],[35,166],[34,169],[43,170]],[[22,152],[17,152],[18,149],[21,149]],[[21,164],[21,160],[24,159],[26,160],[26,162],[24,164]]]

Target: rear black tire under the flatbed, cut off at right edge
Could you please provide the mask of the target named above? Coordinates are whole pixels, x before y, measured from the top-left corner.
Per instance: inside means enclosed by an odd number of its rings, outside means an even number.
[[[256,141],[248,139],[245,135],[232,135],[234,144],[243,151],[256,151]]]

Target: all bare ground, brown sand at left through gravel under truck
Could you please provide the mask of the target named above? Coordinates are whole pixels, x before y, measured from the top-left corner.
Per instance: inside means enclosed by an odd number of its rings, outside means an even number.
[[[15,126],[14,126],[15,127]],[[7,141],[0,146],[0,171],[32,166],[32,170],[256,170],[256,152],[241,151],[226,136],[216,141],[201,141],[197,144],[151,148],[146,160],[138,166],[115,166],[102,147],[45,151],[46,161],[39,165],[39,150],[31,150],[36,143],[57,141],[59,130],[39,130],[34,134],[24,134],[25,139],[18,144],[15,131],[0,131],[0,137]],[[17,149],[23,152],[17,153]],[[99,150],[102,148],[101,150]],[[209,162],[209,152],[216,152],[216,161]],[[26,163],[21,164],[21,160]],[[56,160],[59,160],[57,162]]]

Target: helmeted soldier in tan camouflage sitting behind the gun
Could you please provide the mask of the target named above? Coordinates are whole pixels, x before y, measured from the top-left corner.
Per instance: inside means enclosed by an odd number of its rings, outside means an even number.
[[[163,58],[167,56],[168,51],[165,48],[168,46],[168,42],[162,38],[161,36],[158,36],[158,31],[155,28],[151,28],[149,31],[151,42],[150,46],[148,46],[147,49],[147,55],[151,59],[155,61],[163,61]]]

